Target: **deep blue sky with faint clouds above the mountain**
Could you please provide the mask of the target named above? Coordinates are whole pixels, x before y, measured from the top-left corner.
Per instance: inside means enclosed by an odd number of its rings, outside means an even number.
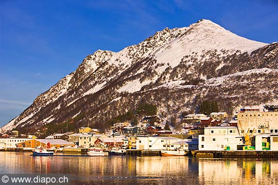
[[[0,126],[95,50],[120,51],[201,18],[247,39],[278,41],[276,0],[0,0]]]

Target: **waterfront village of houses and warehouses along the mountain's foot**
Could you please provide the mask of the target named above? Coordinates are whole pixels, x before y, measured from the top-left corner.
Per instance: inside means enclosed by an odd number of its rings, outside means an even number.
[[[97,147],[106,151],[124,149],[125,155],[278,151],[278,106],[245,106],[230,121],[227,118],[225,112],[188,114],[180,120],[180,131],[170,130],[158,116],[144,117],[136,126],[115,123],[106,132],[80,127],[78,133],[53,133],[43,139],[35,135],[22,137],[12,131],[1,135],[0,150],[30,151],[47,146],[55,152],[81,153]]]

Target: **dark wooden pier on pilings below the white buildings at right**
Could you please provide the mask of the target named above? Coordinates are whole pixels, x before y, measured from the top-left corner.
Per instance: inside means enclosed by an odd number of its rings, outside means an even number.
[[[192,151],[194,157],[278,159],[278,151]]]

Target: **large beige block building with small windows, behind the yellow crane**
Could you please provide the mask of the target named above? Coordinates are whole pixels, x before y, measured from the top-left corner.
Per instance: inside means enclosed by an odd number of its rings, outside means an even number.
[[[239,133],[278,133],[278,112],[243,112],[237,114]],[[241,127],[240,127],[241,125]],[[249,131],[248,131],[249,129]]]

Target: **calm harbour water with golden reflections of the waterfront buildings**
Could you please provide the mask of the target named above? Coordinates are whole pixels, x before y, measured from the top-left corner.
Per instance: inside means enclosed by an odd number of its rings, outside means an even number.
[[[278,184],[278,160],[0,152],[0,173],[71,174],[70,184]]]

